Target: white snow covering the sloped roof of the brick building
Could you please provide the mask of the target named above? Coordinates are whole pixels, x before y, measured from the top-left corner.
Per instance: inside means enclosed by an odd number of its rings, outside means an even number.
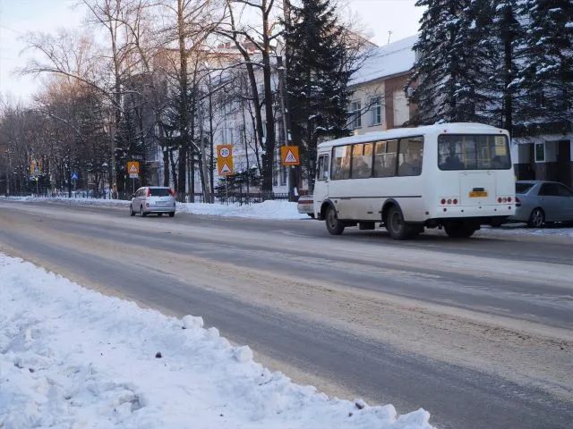
[[[358,85],[412,70],[415,63],[414,45],[417,40],[416,34],[389,45],[373,48],[370,54],[372,56],[363,63],[359,71],[355,72],[349,85]]]

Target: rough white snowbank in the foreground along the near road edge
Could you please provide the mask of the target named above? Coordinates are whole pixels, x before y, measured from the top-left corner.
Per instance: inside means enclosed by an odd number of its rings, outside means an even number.
[[[159,355],[160,353],[160,355]],[[201,317],[167,317],[0,254],[0,427],[430,429],[329,399]]]

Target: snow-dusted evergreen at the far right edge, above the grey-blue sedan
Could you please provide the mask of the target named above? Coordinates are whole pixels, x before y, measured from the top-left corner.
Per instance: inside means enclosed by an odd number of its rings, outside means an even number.
[[[529,101],[527,134],[566,132],[573,123],[573,1],[526,0],[528,62],[520,74]]]

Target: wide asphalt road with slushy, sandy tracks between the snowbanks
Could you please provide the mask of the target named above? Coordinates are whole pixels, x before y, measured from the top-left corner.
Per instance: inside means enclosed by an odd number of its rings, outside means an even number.
[[[0,201],[0,251],[441,428],[573,428],[573,240]]]

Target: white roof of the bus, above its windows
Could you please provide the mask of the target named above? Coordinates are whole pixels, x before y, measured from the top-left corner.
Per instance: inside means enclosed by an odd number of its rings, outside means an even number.
[[[320,143],[318,148],[321,149],[324,147],[347,145],[351,143],[366,143],[377,140],[402,139],[438,132],[447,132],[451,134],[508,134],[507,130],[492,127],[491,125],[485,125],[483,123],[449,122],[415,128],[395,128],[392,130],[367,132],[366,134],[361,134],[359,136],[350,136],[342,139],[325,141]]]

